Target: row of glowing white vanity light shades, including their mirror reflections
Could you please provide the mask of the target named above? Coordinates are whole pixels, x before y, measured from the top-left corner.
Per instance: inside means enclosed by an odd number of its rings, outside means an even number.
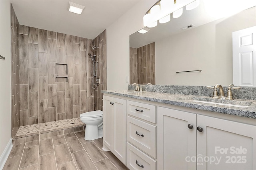
[[[183,13],[183,7],[186,10],[192,10],[199,6],[200,0],[158,0],[144,15],[143,25],[155,27],[157,21],[166,23],[170,21],[170,14],[173,18],[179,18]]]

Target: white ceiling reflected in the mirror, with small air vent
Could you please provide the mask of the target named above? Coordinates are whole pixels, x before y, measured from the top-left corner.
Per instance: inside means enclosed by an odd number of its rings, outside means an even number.
[[[130,47],[142,47],[211,21],[232,16],[252,6],[256,6],[256,0],[200,0],[200,5],[193,10],[187,11],[183,8],[183,14],[179,18],[174,19],[171,16],[171,21],[162,24],[158,22],[156,27],[149,28],[145,34],[136,32],[130,35]],[[182,29],[190,24],[194,27]]]

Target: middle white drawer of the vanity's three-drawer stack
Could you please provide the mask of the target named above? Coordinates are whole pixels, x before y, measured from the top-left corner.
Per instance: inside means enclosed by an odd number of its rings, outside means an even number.
[[[156,158],[156,126],[127,116],[127,141]]]

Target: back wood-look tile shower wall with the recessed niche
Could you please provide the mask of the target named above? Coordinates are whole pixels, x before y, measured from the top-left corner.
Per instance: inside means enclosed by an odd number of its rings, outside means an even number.
[[[20,25],[20,126],[94,110],[88,56],[93,44],[91,39]]]

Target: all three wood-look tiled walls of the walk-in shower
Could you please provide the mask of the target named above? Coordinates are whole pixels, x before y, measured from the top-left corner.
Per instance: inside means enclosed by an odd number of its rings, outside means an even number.
[[[12,8],[12,7],[11,7]],[[19,25],[13,8],[12,137],[20,126],[79,117],[103,108],[106,30],[94,40]],[[14,29],[13,29],[14,28]],[[75,28],[74,28],[75,29]],[[92,51],[90,48],[99,47]],[[92,88],[96,55],[100,84]]]

